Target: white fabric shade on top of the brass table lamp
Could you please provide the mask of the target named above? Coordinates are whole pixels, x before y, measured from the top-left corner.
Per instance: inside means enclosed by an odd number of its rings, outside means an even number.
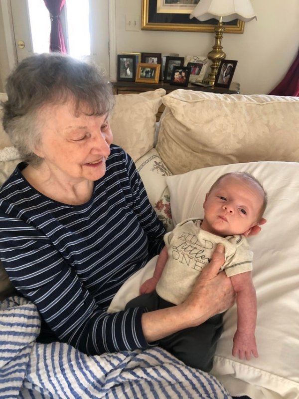
[[[200,21],[222,16],[223,22],[241,19],[248,22],[257,16],[253,10],[250,0],[199,0],[199,3],[190,14],[190,18]]]

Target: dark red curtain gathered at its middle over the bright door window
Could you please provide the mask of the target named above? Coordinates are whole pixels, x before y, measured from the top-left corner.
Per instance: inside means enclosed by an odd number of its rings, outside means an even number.
[[[51,18],[50,52],[59,51],[66,53],[62,25],[59,18],[65,1],[66,0],[44,0]]]

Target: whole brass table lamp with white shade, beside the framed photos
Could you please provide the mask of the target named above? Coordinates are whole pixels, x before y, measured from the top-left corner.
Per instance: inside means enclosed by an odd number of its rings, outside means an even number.
[[[213,45],[213,50],[208,53],[208,58],[212,61],[211,71],[205,80],[205,83],[214,86],[220,61],[226,57],[221,45],[222,33],[225,31],[223,22],[234,19],[249,22],[254,18],[257,19],[257,17],[250,0],[199,0],[199,3],[190,14],[190,18],[193,17],[200,21],[211,18],[219,20],[214,29],[215,44]]]

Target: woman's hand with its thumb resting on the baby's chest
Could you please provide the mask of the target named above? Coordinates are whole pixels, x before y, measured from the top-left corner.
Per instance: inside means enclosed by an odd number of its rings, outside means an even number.
[[[203,268],[191,294],[183,304],[188,308],[189,314],[193,315],[194,326],[232,307],[235,302],[236,295],[230,278],[225,272],[219,273],[223,264],[224,247],[218,244],[211,262]]]

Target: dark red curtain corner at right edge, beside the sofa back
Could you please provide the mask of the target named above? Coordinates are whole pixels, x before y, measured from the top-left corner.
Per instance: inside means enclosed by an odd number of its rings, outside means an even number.
[[[299,97],[299,51],[284,79],[270,94]]]

